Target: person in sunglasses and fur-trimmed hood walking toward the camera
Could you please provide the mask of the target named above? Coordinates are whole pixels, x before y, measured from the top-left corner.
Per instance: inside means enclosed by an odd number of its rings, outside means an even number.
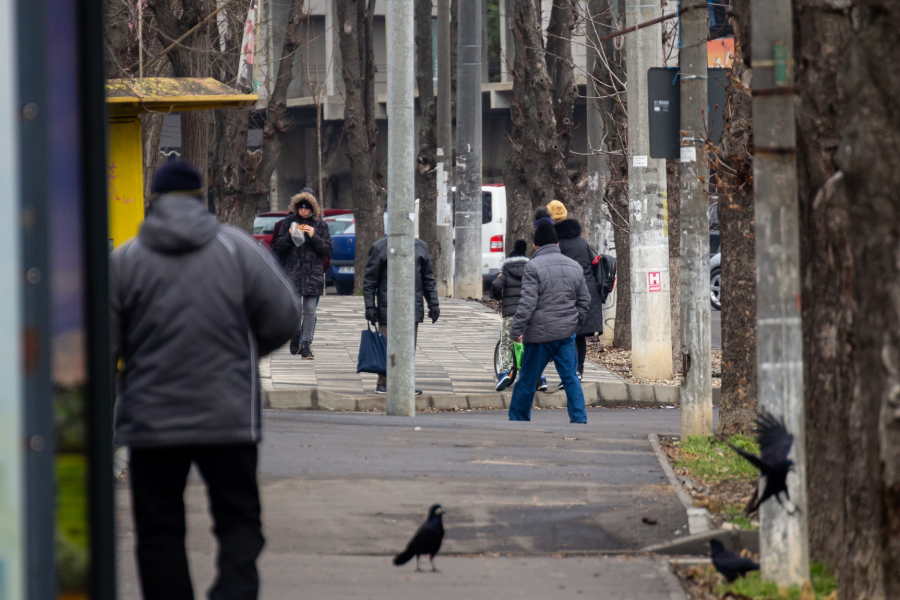
[[[303,316],[300,327],[291,338],[291,354],[312,360],[313,336],[316,333],[316,307],[325,291],[325,269],[322,259],[331,256],[331,233],[322,220],[315,196],[301,192],[291,198],[291,214],[285,217],[272,242],[272,252],[282,257],[285,271],[293,279],[297,295],[302,298]]]

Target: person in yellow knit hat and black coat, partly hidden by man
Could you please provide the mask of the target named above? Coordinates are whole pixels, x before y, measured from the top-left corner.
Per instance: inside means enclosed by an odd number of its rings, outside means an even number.
[[[570,219],[562,202],[553,200],[547,205],[550,218],[556,224],[556,235],[559,237],[559,251],[579,265],[584,273],[588,292],[591,294],[591,306],[584,323],[575,337],[575,348],[578,351],[578,379],[584,377],[584,360],[587,357],[587,338],[603,333],[603,300],[600,297],[600,284],[594,276],[593,262],[596,253],[591,250],[587,240],[581,237],[581,224]],[[562,389],[562,384],[559,385]]]

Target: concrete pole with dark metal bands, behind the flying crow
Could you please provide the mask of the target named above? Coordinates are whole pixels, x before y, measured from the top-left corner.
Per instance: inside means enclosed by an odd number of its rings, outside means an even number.
[[[784,419],[794,436],[788,492],[797,510],[777,502],[759,510],[762,576],[779,585],[809,579],[791,17],[791,0],[752,0],[759,407]]]

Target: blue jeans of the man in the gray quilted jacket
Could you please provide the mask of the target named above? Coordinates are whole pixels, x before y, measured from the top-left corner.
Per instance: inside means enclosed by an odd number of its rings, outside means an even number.
[[[513,387],[513,397],[509,403],[510,421],[530,421],[531,405],[534,404],[534,390],[550,359],[556,364],[556,372],[566,389],[566,408],[570,423],[587,423],[584,411],[584,392],[578,381],[578,352],[575,350],[575,335],[564,340],[525,344],[522,367]]]

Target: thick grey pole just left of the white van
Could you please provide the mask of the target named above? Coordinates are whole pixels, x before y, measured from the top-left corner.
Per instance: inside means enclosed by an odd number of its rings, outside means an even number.
[[[481,11],[459,0],[454,298],[481,298]]]

